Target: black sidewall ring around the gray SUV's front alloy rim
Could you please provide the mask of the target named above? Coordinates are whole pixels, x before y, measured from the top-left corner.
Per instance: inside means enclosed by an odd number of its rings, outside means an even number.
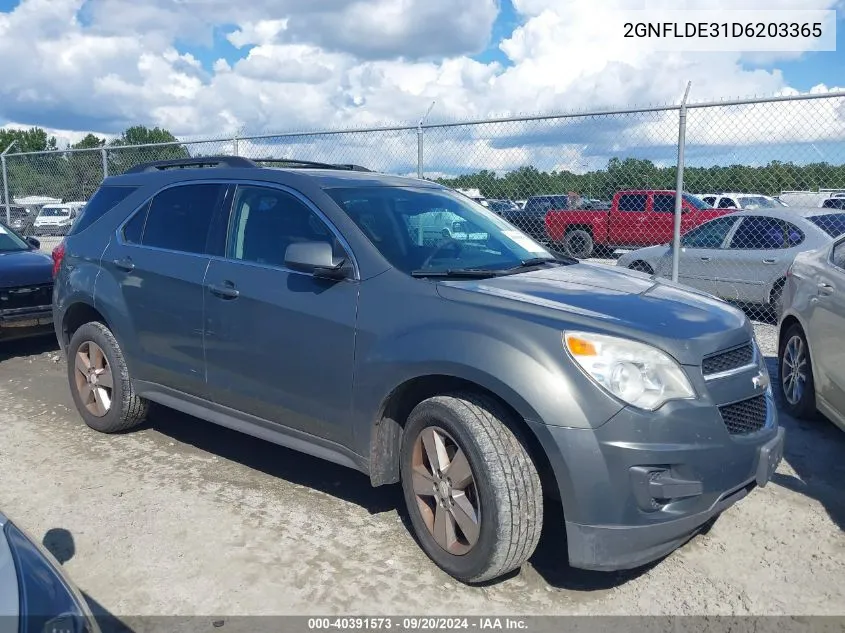
[[[466,554],[456,556],[445,551],[428,531],[417,507],[416,495],[411,484],[411,454],[414,441],[426,427],[437,426],[448,432],[467,456],[476,491],[481,506],[481,528],[478,541]],[[490,564],[497,538],[498,507],[493,487],[490,485],[490,472],[478,445],[472,438],[463,421],[455,411],[442,400],[432,399],[420,404],[408,418],[402,435],[400,454],[402,491],[405,505],[414,527],[417,540],[423,551],[441,569],[456,578],[470,582],[483,573]]]

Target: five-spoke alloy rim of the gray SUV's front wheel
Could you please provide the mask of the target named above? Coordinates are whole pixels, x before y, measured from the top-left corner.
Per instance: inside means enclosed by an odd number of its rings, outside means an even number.
[[[450,554],[466,554],[481,531],[481,506],[466,453],[445,430],[429,426],[414,441],[411,468],[426,528]]]

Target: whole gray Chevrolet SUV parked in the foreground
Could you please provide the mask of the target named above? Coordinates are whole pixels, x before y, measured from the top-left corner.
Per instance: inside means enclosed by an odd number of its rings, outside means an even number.
[[[461,232],[422,230],[444,212]],[[420,546],[465,582],[522,565],[548,503],[572,566],[654,561],[782,455],[742,312],[555,256],[435,183],[146,164],[102,183],[54,257],[89,426],[153,402],[401,482]]]

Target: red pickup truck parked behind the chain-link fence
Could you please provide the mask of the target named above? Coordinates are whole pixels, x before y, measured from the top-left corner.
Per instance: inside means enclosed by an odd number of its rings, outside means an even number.
[[[695,196],[683,194],[681,234],[727,213]],[[675,192],[619,191],[608,210],[551,209],[545,218],[546,234],[571,257],[607,256],[617,248],[639,248],[672,241],[675,227]]]

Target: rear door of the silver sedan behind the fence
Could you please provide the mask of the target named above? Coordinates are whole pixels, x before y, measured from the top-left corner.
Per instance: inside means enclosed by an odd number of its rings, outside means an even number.
[[[719,255],[719,295],[743,303],[768,304],[774,282],[789,267],[786,227],[765,215],[747,215]]]

